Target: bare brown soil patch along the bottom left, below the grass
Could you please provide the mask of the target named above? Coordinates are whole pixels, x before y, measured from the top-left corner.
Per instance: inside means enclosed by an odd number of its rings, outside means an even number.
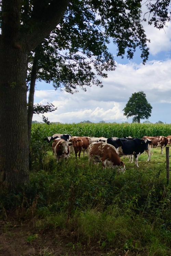
[[[30,235],[37,235],[31,242]],[[97,241],[78,243],[74,232],[41,230],[37,232],[29,223],[18,221],[0,221],[0,256],[81,256],[81,255],[125,255],[114,251],[103,251]],[[126,254],[126,256],[130,254]]]

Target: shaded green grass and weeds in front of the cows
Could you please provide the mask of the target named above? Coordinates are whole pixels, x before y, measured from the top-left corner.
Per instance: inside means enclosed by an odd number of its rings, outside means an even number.
[[[165,150],[161,155],[154,149],[150,162],[147,154],[139,157],[140,168],[123,159],[126,171],[118,175],[89,164],[82,154],[80,161],[72,155],[57,163],[48,151],[42,170],[30,172],[28,190],[3,194],[1,209],[8,215],[17,208],[19,218],[31,218],[35,233],[51,229],[67,237],[69,232],[73,252],[86,245],[103,255],[168,256],[171,186],[165,158]]]

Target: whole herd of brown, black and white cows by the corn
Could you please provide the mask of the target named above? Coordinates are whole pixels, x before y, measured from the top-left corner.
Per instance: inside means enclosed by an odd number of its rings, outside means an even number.
[[[102,166],[110,168],[118,168],[120,171],[125,170],[125,164],[120,160],[120,157],[129,157],[129,162],[134,161],[137,167],[139,156],[145,152],[148,154],[147,162],[150,161],[151,149],[153,154],[153,148],[161,147],[161,154],[163,154],[163,148],[171,143],[171,135],[164,136],[144,136],[142,139],[123,137],[78,137],[69,134],[54,134],[53,136],[48,136],[44,138],[47,142],[53,141],[52,151],[57,158],[57,162],[61,158],[67,159],[70,156],[70,146],[71,150],[74,150],[75,157],[77,159],[77,154],[80,159],[81,151],[83,151],[83,156],[85,151],[89,157],[89,161],[101,162]]]

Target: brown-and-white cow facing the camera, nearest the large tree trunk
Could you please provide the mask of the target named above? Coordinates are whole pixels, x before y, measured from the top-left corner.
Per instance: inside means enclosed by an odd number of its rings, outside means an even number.
[[[54,139],[52,143],[52,151],[55,158],[57,158],[57,162],[59,162],[61,158],[67,159],[69,157],[71,145],[71,143],[68,143],[64,139]]]

